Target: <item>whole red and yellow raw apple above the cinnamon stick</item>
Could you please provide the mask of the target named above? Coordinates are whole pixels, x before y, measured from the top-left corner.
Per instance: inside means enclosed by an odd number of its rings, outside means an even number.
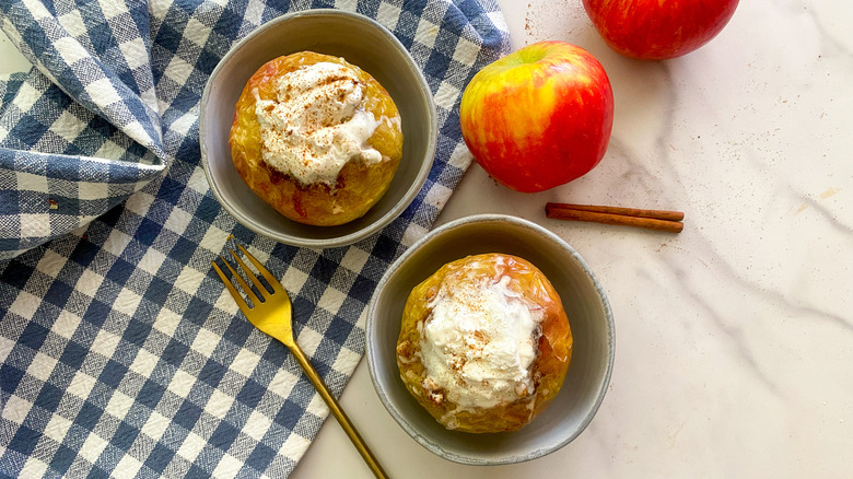
[[[463,93],[463,138],[477,162],[517,191],[542,191],[601,161],[614,93],[588,51],[540,42],[480,70]]]

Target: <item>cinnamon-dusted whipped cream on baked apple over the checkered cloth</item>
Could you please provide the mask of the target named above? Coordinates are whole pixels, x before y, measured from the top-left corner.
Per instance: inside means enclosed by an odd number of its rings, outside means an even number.
[[[261,100],[257,89],[253,94],[262,160],[302,184],[335,186],[348,161],[382,161],[366,143],[379,120],[362,107],[364,90],[352,69],[305,66],[279,78],[276,101]]]

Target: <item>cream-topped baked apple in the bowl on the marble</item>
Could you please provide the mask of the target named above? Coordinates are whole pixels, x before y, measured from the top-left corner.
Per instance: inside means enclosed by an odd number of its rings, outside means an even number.
[[[557,396],[572,332],[545,274],[516,256],[448,262],[409,295],[397,341],[400,377],[445,428],[523,428]]]

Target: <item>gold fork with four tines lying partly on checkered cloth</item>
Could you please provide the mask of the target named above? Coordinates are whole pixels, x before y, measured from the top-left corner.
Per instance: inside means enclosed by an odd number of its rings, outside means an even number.
[[[258,297],[255,292],[252,291],[252,288],[249,288],[246,281],[239,274],[237,274],[237,271],[234,270],[231,264],[226,261],[225,258],[220,256],[219,259],[221,259],[222,262],[229,268],[229,270],[231,270],[232,276],[237,280],[237,283],[246,293],[246,296],[248,296],[249,301],[252,301],[253,306],[249,306],[246,304],[246,300],[243,299],[237,289],[234,288],[234,284],[219,268],[217,261],[211,261],[213,269],[217,270],[217,273],[222,279],[222,282],[225,283],[225,288],[227,288],[229,292],[231,292],[231,295],[234,296],[234,301],[237,303],[237,306],[239,306],[239,311],[243,312],[249,323],[255,325],[255,327],[278,339],[284,346],[287,346],[288,349],[290,349],[290,351],[296,358],[296,361],[300,363],[300,366],[302,366],[302,370],[305,371],[305,374],[314,384],[317,393],[319,393],[319,395],[329,406],[329,409],[335,416],[335,419],[337,419],[340,425],[343,428],[343,431],[350,437],[350,441],[352,441],[352,443],[355,445],[355,448],[359,449],[359,454],[361,454],[361,457],[363,457],[367,463],[367,466],[371,468],[373,474],[377,478],[386,478],[387,476],[385,475],[385,471],[382,470],[379,463],[376,462],[376,458],[373,457],[373,454],[367,448],[367,445],[364,444],[364,440],[362,440],[361,435],[359,435],[359,432],[355,431],[355,427],[353,427],[352,422],[350,422],[350,419],[347,418],[347,414],[340,408],[338,401],[335,400],[335,397],[331,395],[331,393],[329,393],[328,386],[326,386],[326,384],[323,382],[323,378],[320,378],[319,374],[317,374],[317,371],[314,370],[314,366],[311,365],[308,358],[304,352],[302,352],[302,348],[300,348],[300,346],[296,343],[296,340],[293,339],[290,296],[288,295],[288,292],[284,291],[284,287],[282,287],[281,283],[269,272],[269,270],[262,267],[260,262],[258,262],[258,260],[246,250],[246,248],[241,245],[237,245],[237,247],[241,252],[243,252],[246,258],[248,258],[249,261],[255,265],[255,268],[260,271],[270,287],[272,287],[272,291],[268,291],[261,284],[255,273],[252,272],[252,270],[246,266],[246,264],[239,259],[239,256],[237,256],[233,249],[229,249],[231,256],[234,257],[239,268],[252,280],[252,282],[255,284],[255,288],[257,288],[258,292],[260,293],[260,297]]]

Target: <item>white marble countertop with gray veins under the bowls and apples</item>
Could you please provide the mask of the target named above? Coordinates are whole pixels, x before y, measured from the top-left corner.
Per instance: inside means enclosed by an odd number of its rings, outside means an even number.
[[[362,361],[341,405],[392,477],[853,477],[853,3],[743,1],[680,59],[609,50],[580,1],[499,0],[514,48],[563,39],[614,85],[601,164],[535,195],[474,166],[440,223],[536,221],[572,244],[617,324],[589,428],[529,463],[461,466],[397,427]],[[2,71],[24,69],[0,38]],[[547,201],[685,211],[678,235],[548,220]],[[559,472],[558,472],[559,471]],[[291,476],[372,477],[328,420]]]

